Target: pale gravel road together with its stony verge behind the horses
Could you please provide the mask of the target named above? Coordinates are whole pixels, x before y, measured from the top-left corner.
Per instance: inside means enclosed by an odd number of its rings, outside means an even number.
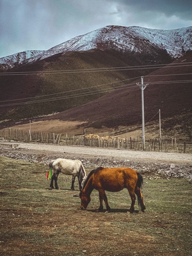
[[[51,159],[63,157],[79,159],[85,168],[98,166],[130,166],[148,177],[186,178],[192,182],[192,155],[170,152],[141,152],[114,148],[92,148],[42,143],[12,143],[12,148],[0,143],[0,155],[32,163],[48,164]]]

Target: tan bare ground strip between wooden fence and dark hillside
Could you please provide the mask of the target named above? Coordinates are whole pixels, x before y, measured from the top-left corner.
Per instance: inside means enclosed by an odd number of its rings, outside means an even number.
[[[47,116],[48,118],[48,116]],[[52,116],[54,118],[54,115]],[[190,120],[190,116],[186,119]],[[81,135],[86,132],[86,134],[98,134],[99,136],[109,135],[118,136],[120,138],[141,138],[142,137],[142,127],[141,124],[135,125],[118,125],[114,127],[106,127],[104,125],[100,127],[95,127],[94,123],[89,124],[86,121],[68,121],[60,119],[50,119],[50,120],[39,120],[41,118],[34,118],[33,120],[20,120],[20,122],[12,122],[9,126],[12,129],[20,129],[22,131],[31,132],[55,132],[56,134],[71,134],[71,135]],[[169,127],[168,124],[173,124],[173,120],[167,119],[163,120],[161,126],[162,138],[179,138],[190,141],[189,136],[186,134],[184,129],[181,129],[182,125],[179,125],[181,120],[177,121],[175,127]],[[179,123],[179,124],[178,124]],[[6,124],[6,123],[3,123]],[[167,126],[168,125],[168,126]],[[1,126],[1,123],[0,123]],[[186,125],[188,126],[188,125]],[[190,127],[190,125],[189,125]],[[151,140],[153,138],[159,138],[159,122],[151,121],[145,124],[145,140]]]

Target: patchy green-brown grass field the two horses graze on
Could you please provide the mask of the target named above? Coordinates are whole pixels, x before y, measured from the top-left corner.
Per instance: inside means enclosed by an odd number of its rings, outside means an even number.
[[[87,170],[87,173],[90,170]],[[96,212],[93,191],[80,210],[71,177],[60,175],[59,190],[49,190],[47,166],[0,156],[1,255],[192,255],[192,186],[186,179],[147,179],[144,213],[127,213],[126,189],[109,193],[111,212]]]

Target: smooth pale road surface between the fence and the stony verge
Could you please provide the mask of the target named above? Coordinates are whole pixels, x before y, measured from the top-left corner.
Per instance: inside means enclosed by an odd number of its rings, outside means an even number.
[[[12,143],[14,145],[14,143]],[[176,152],[148,152],[148,151],[134,151],[116,148],[93,148],[93,147],[78,147],[68,145],[52,145],[44,143],[15,143],[20,149],[26,150],[42,150],[49,152],[60,152],[65,154],[72,154],[78,157],[92,156],[92,157],[116,157],[126,160],[150,160],[150,161],[173,161],[184,162],[192,166],[192,154],[182,154]],[[1,147],[1,146],[0,146]]]

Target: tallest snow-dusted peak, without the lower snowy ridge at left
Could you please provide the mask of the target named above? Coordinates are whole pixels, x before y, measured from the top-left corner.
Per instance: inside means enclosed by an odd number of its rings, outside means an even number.
[[[90,49],[143,52],[147,44],[165,49],[172,58],[192,50],[192,27],[172,30],[141,27],[106,26],[85,35],[76,36],[47,51],[47,55],[63,51]]]

